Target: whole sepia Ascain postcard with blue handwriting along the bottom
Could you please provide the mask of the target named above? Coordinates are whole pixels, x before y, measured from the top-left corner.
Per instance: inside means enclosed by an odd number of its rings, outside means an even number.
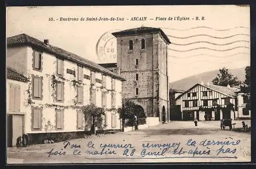
[[[7,164],[250,162],[250,7],[7,7]]]

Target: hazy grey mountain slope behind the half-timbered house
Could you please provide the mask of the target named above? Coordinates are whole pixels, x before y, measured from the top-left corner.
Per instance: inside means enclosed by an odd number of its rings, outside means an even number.
[[[236,68],[236,69],[228,69],[229,73],[231,73],[234,76],[237,76],[240,81],[245,80],[245,67]],[[178,90],[187,90],[190,87],[194,86],[196,83],[200,82],[210,82],[212,84],[211,80],[214,79],[217,74],[219,73],[219,70],[213,70],[213,71],[207,71],[202,74],[190,76],[187,78],[183,78],[181,80],[169,83],[169,88],[178,89]]]

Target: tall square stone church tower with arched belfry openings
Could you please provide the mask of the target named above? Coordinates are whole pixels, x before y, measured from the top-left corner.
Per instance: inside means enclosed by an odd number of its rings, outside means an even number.
[[[143,108],[153,121],[169,122],[168,37],[160,28],[140,27],[112,33],[123,98]]]

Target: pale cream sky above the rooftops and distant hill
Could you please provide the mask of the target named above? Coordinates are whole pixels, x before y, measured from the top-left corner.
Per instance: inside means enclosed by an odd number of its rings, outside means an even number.
[[[170,39],[169,81],[250,65],[250,9],[238,6],[76,6],[8,7],[6,36],[25,33],[96,63],[116,62],[96,53],[106,32],[137,27],[161,28]],[[168,20],[168,17],[190,20]],[[49,21],[49,18],[54,21]],[[119,21],[60,21],[62,18],[119,17]],[[132,17],[147,17],[144,21]],[[156,17],[166,20],[156,20]],[[196,17],[200,20],[196,20]],[[204,20],[201,18],[204,17]],[[192,19],[194,18],[194,19]],[[111,35],[111,34],[110,34]],[[116,39],[111,45],[116,47]],[[108,44],[107,46],[109,46]],[[109,46],[110,47],[110,46]],[[116,50],[114,50],[114,53]]]

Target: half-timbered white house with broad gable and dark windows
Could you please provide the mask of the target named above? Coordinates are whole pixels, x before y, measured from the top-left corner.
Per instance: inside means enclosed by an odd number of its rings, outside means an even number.
[[[181,99],[183,120],[237,119],[238,88],[198,83],[184,92]]]

